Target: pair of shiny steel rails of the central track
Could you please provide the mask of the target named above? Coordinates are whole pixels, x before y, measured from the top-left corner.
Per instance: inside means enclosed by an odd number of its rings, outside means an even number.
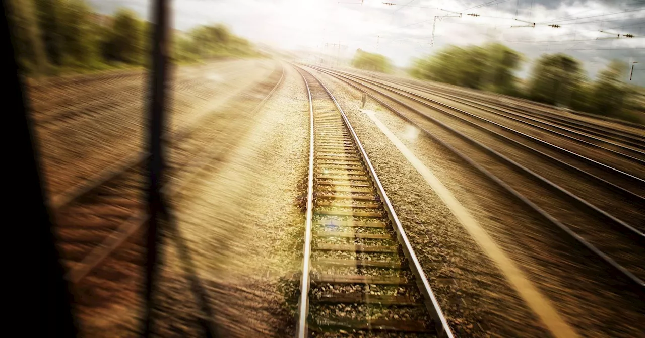
[[[302,69],[302,68],[298,68],[298,69]],[[306,71],[306,70],[303,70],[303,71]],[[379,177],[378,177],[378,175],[377,175],[377,173],[376,173],[376,171],[375,171],[375,169],[374,169],[374,167],[372,165],[372,162],[370,161],[370,159],[369,159],[364,147],[362,146],[361,141],[359,140],[358,136],[356,135],[356,133],[355,133],[353,127],[352,127],[352,124],[350,123],[350,120],[347,118],[346,114],[342,110],[340,104],[337,102],[335,97],[333,97],[332,92],[323,84],[323,82],[320,79],[318,79],[317,77],[315,77],[315,75],[313,75],[313,73],[311,73],[310,71],[306,71],[306,72],[309,75],[311,75],[313,77],[313,79],[315,79],[321,85],[321,87],[324,89],[324,91],[327,93],[327,95],[330,97],[330,99],[332,99],[333,103],[335,104],[335,107],[341,113],[342,120],[343,120],[345,126],[350,131],[350,134],[352,135],[352,138],[353,138],[356,146],[359,149],[359,153],[361,154],[362,159],[364,160],[364,162],[366,164],[366,167],[368,167],[370,177],[372,178],[373,183],[377,187],[377,192],[378,192],[378,194],[379,194],[379,196],[381,198],[382,203],[385,206],[386,213],[388,214],[388,218],[390,219],[390,221],[394,225],[393,229],[397,233],[397,241],[399,241],[399,244],[402,247],[402,251],[404,253],[404,256],[406,256],[406,258],[408,259],[408,265],[410,267],[410,270],[412,271],[412,273],[415,276],[415,281],[417,283],[417,287],[419,288],[419,291],[421,291],[421,294],[424,296],[424,305],[426,307],[426,310],[428,310],[428,314],[430,314],[433,317],[434,321],[435,321],[435,328],[437,329],[438,336],[439,337],[445,337],[445,338],[453,338],[454,337],[453,333],[450,330],[450,326],[448,325],[448,321],[446,321],[446,317],[444,316],[444,314],[443,314],[443,312],[441,310],[441,306],[439,305],[439,301],[437,300],[437,297],[435,297],[435,295],[434,295],[434,293],[432,291],[432,288],[430,287],[430,283],[428,282],[428,278],[426,277],[425,273],[423,272],[423,268],[421,267],[421,263],[419,263],[419,259],[417,258],[416,254],[415,254],[415,252],[414,252],[414,250],[412,248],[412,244],[410,243],[410,241],[408,239],[408,236],[406,236],[406,232],[405,232],[405,230],[403,229],[403,227],[401,225],[401,221],[399,221],[399,218],[397,217],[397,214],[394,211],[394,208],[392,206],[392,202],[390,202],[390,199],[388,198],[388,196],[387,196],[387,194],[385,192],[385,189],[383,188],[383,186],[381,184],[381,180],[379,180]],[[310,87],[307,84],[307,80],[304,77],[304,74],[302,72],[301,72],[301,75],[303,75],[303,80],[304,80],[304,82],[305,82],[305,84],[307,86],[308,95],[309,95],[309,97],[311,99],[311,91],[309,89]],[[310,100],[310,113],[312,114],[312,125],[311,125],[311,127],[312,127],[312,144],[313,144],[313,104],[312,104],[311,100]],[[313,163],[313,147],[310,147],[310,155],[311,155],[310,156],[310,164],[312,164]],[[313,173],[313,167],[312,166],[310,166],[310,173]],[[313,187],[313,176],[310,176],[310,188],[312,188],[312,187]],[[310,202],[311,201],[308,200],[308,207],[310,206]],[[308,214],[309,214],[310,211],[311,210],[308,209]],[[307,244],[305,243],[305,245],[307,245]],[[304,270],[303,270],[303,280],[306,278],[306,277],[304,277],[304,273],[308,273],[308,272],[304,272]],[[304,292],[303,292],[304,286],[302,286],[302,287],[303,288],[301,289],[301,302],[303,302],[303,303],[299,303],[299,307],[300,307],[300,304],[304,304],[304,301],[306,301],[306,297],[308,297],[308,294],[304,294]],[[308,290],[308,286],[306,286],[306,289]],[[304,314],[303,312],[304,311],[301,310],[301,312],[299,313],[299,323],[298,323],[299,328],[306,327],[306,318],[307,317],[306,317],[306,314]],[[303,314],[304,314],[304,316],[303,316]],[[300,321],[303,321],[303,320],[304,320],[305,323],[300,322]],[[306,330],[304,330],[304,332],[299,330],[297,337],[299,337],[299,338],[306,337],[306,335],[301,335],[301,333],[306,334]]]

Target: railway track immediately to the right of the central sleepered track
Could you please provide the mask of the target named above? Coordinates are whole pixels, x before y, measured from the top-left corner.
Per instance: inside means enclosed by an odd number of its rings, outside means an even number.
[[[491,147],[488,145],[492,143],[481,141],[484,140],[482,135],[474,138],[469,136],[473,135],[469,132],[473,124],[465,120],[462,121],[461,126],[455,125],[454,121],[449,125],[444,122],[444,119],[426,114],[424,110],[427,110],[428,106],[419,108],[419,102],[414,105],[409,97],[395,97],[395,91],[386,93],[385,88],[377,88],[368,81],[323,71],[367,93],[425,135],[466,160],[540,214],[548,223],[562,230],[573,240],[573,243],[582,245],[596,258],[613,268],[617,272],[617,277],[626,282],[626,285],[633,286],[637,292],[642,293],[645,290],[643,282],[645,266],[642,262],[645,251],[642,231],[618,220],[602,209],[590,207],[591,203],[531,170],[532,166],[529,169],[529,165],[535,164],[533,162],[535,158],[526,165],[522,165],[517,160],[513,160],[510,154],[504,155],[506,151],[498,151],[500,147],[504,149],[504,145],[500,142],[495,143],[499,147]],[[444,113],[444,111],[441,112]],[[570,178],[566,177],[565,180],[567,179]],[[633,208],[625,209],[642,212],[637,209],[637,205]],[[643,219],[635,218],[641,221]]]

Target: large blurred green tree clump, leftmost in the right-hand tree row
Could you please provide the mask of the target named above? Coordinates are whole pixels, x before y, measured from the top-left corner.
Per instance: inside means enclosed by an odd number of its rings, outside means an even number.
[[[417,59],[413,77],[504,94],[517,93],[513,72],[521,66],[519,53],[502,44],[448,46],[426,59]]]

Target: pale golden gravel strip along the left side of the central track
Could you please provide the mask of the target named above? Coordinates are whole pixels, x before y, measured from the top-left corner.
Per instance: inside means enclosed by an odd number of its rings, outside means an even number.
[[[293,335],[295,309],[286,301],[293,290],[283,288],[283,277],[301,263],[309,118],[300,75],[286,65],[285,71],[284,84],[229,159],[175,201],[223,337]],[[194,336],[191,309],[177,313],[174,306],[185,303],[175,292],[187,286],[170,258],[161,295],[168,302],[164,336]]]

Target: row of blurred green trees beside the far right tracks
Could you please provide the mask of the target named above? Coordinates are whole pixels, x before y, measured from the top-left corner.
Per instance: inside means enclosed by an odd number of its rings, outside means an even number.
[[[515,77],[522,67],[521,53],[502,44],[448,46],[424,59],[413,61],[410,75],[473,89],[494,91],[645,124],[642,88],[624,82],[625,62],[612,61],[595,80],[584,75],[581,62],[570,55],[542,55],[526,85]]]

